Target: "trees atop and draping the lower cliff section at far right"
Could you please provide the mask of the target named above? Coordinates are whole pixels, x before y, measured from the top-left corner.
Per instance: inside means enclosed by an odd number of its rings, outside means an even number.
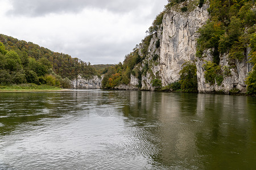
[[[199,29],[199,39],[197,40],[197,57],[203,57],[204,50],[214,49],[214,62],[204,65],[205,80],[220,86],[223,76],[230,76],[229,67],[224,67],[221,73],[218,66],[219,54],[228,53],[229,63],[236,63],[235,60],[242,61],[245,58],[246,48],[253,46],[255,34],[256,11],[254,1],[229,1],[210,0],[209,14],[210,20]],[[251,48],[250,59],[255,63],[255,49]],[[254,92],[255,67],[246,79],[247,91]]]

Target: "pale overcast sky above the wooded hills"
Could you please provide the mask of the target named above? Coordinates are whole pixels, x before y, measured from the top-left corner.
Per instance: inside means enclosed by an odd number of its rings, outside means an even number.
[[[85,62],[118,63],[167,0],[0,0],[0,33]]]

